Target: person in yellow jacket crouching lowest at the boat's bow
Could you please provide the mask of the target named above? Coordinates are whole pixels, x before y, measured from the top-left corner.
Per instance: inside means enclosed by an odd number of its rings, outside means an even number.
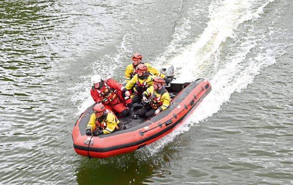
[[[90,116],[89,122],[86,126],[86,135],[100,135],[113,132],[118,127],[119,120],[115,114],[106,109],[102,103],[98,103],[93,107],[93,113]]]

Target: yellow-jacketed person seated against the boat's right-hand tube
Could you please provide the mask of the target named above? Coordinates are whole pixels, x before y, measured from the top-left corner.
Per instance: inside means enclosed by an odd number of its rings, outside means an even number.
[[[149,118],[168,108],[170,96],[167,90],[165,90],[164,84],[163,78],[155,77],[153,79],[153,86],[150,86],[147,91],[143,92],[143,100],[147,101],[147,97],[149,97],[150,107],[139,109],[138,114],[140,117],[146,116]]]

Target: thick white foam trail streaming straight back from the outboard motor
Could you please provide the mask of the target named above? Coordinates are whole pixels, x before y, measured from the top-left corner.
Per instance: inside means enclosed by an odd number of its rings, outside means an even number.
[[[234,29],[241,23],[259,17],[267,1],[257,10],[252,9],[251,0],[214,1],[209,6],[210,21],[196,43],[188,46],[168,63],[176,68],[177,82],[194,80],[200,75],[201,65],[218,50],[221,43],[234,37]],[[186,70],[189,68],[189,70]]]

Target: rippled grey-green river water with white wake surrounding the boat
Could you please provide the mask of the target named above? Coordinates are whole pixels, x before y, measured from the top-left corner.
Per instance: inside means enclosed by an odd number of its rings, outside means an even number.
[[[292,0],[1,0],[0,184],[293,184]],[[107,159],[73,150],[90,77],[134,52],[212,92],[176,130]]]

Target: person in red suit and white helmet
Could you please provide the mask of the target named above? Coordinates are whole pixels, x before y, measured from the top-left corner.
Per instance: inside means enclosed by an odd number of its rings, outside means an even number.
[[[114,79],[102,80],[100,75],[91,77],[93,86],[90,95],[97,103],[103,103],[116,110],[122,116],[134,115],[134,108],[130,92]],[[124,105],[127,104],[128,108]]]

